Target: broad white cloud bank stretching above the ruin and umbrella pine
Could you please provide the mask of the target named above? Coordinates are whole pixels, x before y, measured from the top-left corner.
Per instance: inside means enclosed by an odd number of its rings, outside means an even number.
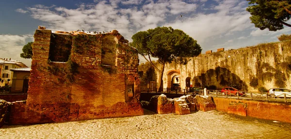
[[[254,37],[274,38],[291,32],[291,28],[276,32],[255,28],[250,23],[251,15],[245,11],[247,6],[245,0],[94,0],[76,9],[35,5],[27,10],[32,18],[43,21],[43,26],[51,30],[100,32],[117,29],[129,41],[138,31],[171,26],[193,37],[204,50],[230,47],[230,44],[235,49],[241,47],[235,44],[238,40],[248,42]],[[248,33],[252,37],[244,37]],[[244,44],[253,45],[251,43],[254,42]]]

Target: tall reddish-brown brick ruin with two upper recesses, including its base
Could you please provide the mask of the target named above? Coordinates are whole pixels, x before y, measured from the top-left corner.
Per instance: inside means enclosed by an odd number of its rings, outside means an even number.
[[[28,98],[9,124],[143,115],[137,50],[117,30],[73,33],[35,31]]]

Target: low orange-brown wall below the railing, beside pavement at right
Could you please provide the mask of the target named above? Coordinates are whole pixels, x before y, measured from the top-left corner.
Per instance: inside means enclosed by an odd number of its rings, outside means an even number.
[[[213,97],[217,111],[291,123],[291,104]]]

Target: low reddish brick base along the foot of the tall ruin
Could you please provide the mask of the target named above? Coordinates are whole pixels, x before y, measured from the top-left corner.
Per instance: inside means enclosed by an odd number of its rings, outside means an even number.
[[[79,121],[98,118],[113,118],[144,115],[138,102],[118,102],[111,107],[81,106],[76,103],[26,104],[26,101],[12,102],[9,125],[44,124],[52,122]]]

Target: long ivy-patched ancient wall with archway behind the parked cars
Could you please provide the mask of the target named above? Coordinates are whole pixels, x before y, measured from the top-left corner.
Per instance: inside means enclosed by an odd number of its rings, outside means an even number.
[[[200,55],[190,58],[186,65],[172,62],[165,65],[163,88],[171,88],[172,78],[178,75],[182,89],[189,86],[189,79],[193,86],[218,89],[225,86],[248,91],[258,91],[259,87],[291,89],[290,52],[291,41],[285,41]],[[250,85],[254,79],[258,79],[256,87]]]

